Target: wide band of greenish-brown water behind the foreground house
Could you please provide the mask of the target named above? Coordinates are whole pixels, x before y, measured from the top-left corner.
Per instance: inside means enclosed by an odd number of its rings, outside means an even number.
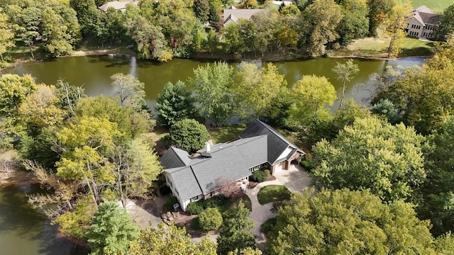
[[[145,92],[148,106],[155,106],[155,98],[162,91],[162,88],[171,81],[187,81],[193,75],[193,69],[200,64],[214,62],[215,60],[172,60],[167,63],[156,63],[137,60],[131,56],[121,55],[100,55],[84,57],[62,57],[55,60],[43,62],[26,63],[19,67],[4,70],[4,73],[31,74],[37,82],[55,84],[57,79],[64,79],[70,84],[83,86],[90,96],[112,94],[111,75],[118,72],[132,74],[145,83]],[[317,58],[311,60],[299,60],[292,62],[274,62],[279,72],[285,75],[287,83],[292,86],[295,81],[303,75],[315,74],[325,76],[336,87],[338,94],[341,94],[342,83],[336,79],[331,71],[336,62],[344,63],[345,59]],[[347,84],[345,91],[346,98],[354,98],[358,103],[367,103],[373,91],[373,83],[369,76],[372,73],[382,74],[387,65],[402,65],[409,67],[414,64],[421,64],[424,61],[421,57],[407,57],[400,60],[360,60],[353,62],[360,68],[357,74]],[[262,62],[254,62],[261,65]],[[238,62],[233,62],[238,64]]]

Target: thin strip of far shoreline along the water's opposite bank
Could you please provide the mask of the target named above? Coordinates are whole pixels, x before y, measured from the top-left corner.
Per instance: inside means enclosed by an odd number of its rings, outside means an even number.
[[[83,56],[96,56],[96,55],[123,55],[123,56],[131,56],[137,57],[137,53],[135,52],[122,52],[121,50],[110,50],[110,49],[101,49],[101,50],[76,50],[72,52],[71,55],[65,55],[60,57],[83,57]],[[60,58],[56,57],[56,58]],[[431,58],[432,56],[406,56],[406,57],[421,57],[421,58]],[[220,60],[220,61],[254,61],[254,62],[292,62],[292,61],[302,61],[302,60],[311,60],[316,58],[333,58],[333,59],[359,59],[359,60],[399,60],[406,57],[363,57],[358,55],[336,55],[336,56],[329,56],[329,57],[310,57],[310,56],[301,56],[297,58],[290,59],[285,55],[279,55],[279,57],[250,57],[250,58],[242,58],[242,57],[235,57],[234,55],[223,54],[223,55],[209,55],[209,53],[199,53],[198,55],[194,55],[194,57],[188,57],[188,60]],[[177,58],[175,58],[177,59]],[[15,62],[10,63],[7,67],[0,68],[0,72],[3,69],[9,69],[12,67],[17,67],[21,64],[26,64],[30,62],[39,62],[47,60],[46,58],[43,59],[28,59],[28,60],[16,60]],[[149,60],[153,61],[153,60]],[[172,61],[172,60],[170,60]]]

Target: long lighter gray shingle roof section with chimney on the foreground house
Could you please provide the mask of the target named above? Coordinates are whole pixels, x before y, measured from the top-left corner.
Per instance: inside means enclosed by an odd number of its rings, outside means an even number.
[[[222,146],[219,146],[222,145]],[[179,196],[183,200],[201,193],[208,194],[250,175],[249,169],[267,162],[267,136],[245,138],[229,143],[214,145],[211,157],[197,157],[187,166],[176,157],[175,149],[169,149],[161,158],[165,172],[172,176]],[[166,169],[173,159],[173,166]],[[167,165],[165,165],[167,164]],[[184,192],[184,193],[183,193]]]

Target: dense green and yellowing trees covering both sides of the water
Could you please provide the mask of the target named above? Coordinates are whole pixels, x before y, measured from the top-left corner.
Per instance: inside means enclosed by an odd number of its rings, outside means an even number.
[[[33,55],[40,47],[56,57],[81,40],[96,40],[135,42],[140,57],[165,61],[213,52],[221,35],[222,49],[233,54],[323,55],[336,44],[374,35],[387,15],[406,10],[386,0],[303,0],[221,28],[218,10],[229,2],[141,1],[124,13],[101,12],[101,4],[0,1],[0,53],[22,46]],[[243,7],[258,4],[267,3],[246,1]],[[208,33],[206,21],[214,28]],[[308,75],[287,84],[274,64],[199,66],[187,81],[165,85],[155,115],[145,105],[145,84],[131,75],[114,74],[109,97],[87,96],[63,80],[36,84],[29,75],[4,74],[0,149],[16,149],[24,168],[48,188],[30,202],[62,232],[87,242],[93,254],[254,255],[262,251],[255,249],[243,203],[223,215],[201,213],[202,221],[218,219],[210,223],[221,232],[217,244],[207,238],[194,244],[172,224],[138,229],[114,201],[124,206],[128,198],[153,198],[162,184],[150,137],[155,125],[169,131],[169,145],[196,151],[209,138],[196,120],[222,128],[232,117],[258,118],[297,134],[310,155],[301,164],[314,179],[314,188],[275,203],[277,217],[263,231],[267,254],[451,253],[454,31],[448,25],[440,27],[443,42],[436,42],[422,67],[387,67],[371,75],[376,90],[370,107],[343,98],[345,84],[360,72],[352,61],[327,70],[343,83],[333,111],[326,108],[337,98],[328,79]]]

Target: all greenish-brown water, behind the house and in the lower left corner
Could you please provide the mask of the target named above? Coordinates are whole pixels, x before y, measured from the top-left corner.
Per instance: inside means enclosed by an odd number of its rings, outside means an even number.
[[[292,62],[275,62],[279,72],[285,75],[289,86],[303,75],[316,74],[327,77],[341,94],[341,81],[331,71],[336,62],[345,59],[319,58]],[[409,67],[421,65],[423,58],[409,57],[401,60],[353,60],[360,73],[348,83],[346,98],[358,103],[367,103],[373,91],[370,74],[382,74],[387,65]],[[214,60],[209,61],[214,62]],[[4,73],[31,74],[36,81],[55,84],[64,79],[70,84],[83,86],[89,96],[111,95],[111,75],[121,72],[133,74],[145,83],[147,103],[153,108],[155,98],[167,81],[187,81],[192,70],[207,61],[172,60],[154,63],[136,60],[135,57],[101,55],[87,57],[62,57],[56,60],[32,62],[4,70]],[[233,63],[238,64],[238,63]],[[262,62],[255,62],[261,65]],[[38,186],[22,184],[0,187],[0,254],[84,254],[79,247],[60,237],[55,226],[38,210],[28,205],[26,193],[38,191]]]

